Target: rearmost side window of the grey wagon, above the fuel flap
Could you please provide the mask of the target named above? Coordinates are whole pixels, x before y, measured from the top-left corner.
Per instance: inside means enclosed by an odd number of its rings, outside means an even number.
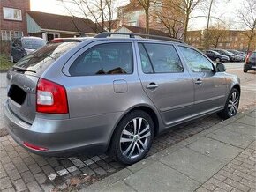
[[[105,43],[89,48],[72,63],[72,76],[131,74],[131,43]]]

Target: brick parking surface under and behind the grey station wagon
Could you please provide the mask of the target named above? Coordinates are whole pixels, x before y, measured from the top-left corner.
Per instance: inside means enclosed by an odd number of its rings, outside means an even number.
[[[217,115],[187,122],[156,137],[147,156],[177,144],[221,122]],[[0,191],[50,191],[84,188],[124,166],[106,154],[67,159],[43,158],[23,149],[10,137],[0,137]]]

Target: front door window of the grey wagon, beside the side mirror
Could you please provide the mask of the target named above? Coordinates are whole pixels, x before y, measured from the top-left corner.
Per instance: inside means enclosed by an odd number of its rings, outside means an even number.
[[[210,72],[214,70],[212,63],[207,58],[192,48],[179,46],[186,62],[193,72]]]

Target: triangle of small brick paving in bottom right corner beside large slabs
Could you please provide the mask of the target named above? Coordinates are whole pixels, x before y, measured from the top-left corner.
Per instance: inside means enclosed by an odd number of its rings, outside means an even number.
[[[197,192],[255,192],[256,141],[206,181]]]

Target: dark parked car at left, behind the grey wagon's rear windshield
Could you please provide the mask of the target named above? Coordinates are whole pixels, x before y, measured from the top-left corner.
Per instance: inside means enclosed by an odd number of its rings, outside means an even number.
[[[46,41],[39,37],[17,37],[11,40],[11,62],[16,63],[22,57],[43,47]]]

